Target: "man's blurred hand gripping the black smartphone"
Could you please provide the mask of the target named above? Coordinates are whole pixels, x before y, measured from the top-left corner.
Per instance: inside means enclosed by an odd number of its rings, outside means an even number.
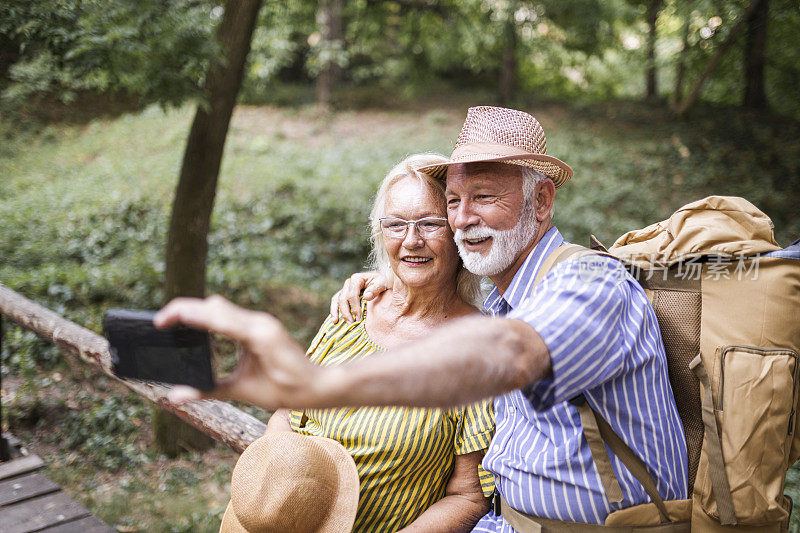
[[[218,380],[213,391],[175,387],[170,393],[175,403],[217,398],[276,409],[302,405],[313,396],[320,367],[308,360],[280,321],[268,313],[248,311],[221,296],[176,298],[156,314],[153,323],[160,328],[186,324],[242,344],[236,368]]]

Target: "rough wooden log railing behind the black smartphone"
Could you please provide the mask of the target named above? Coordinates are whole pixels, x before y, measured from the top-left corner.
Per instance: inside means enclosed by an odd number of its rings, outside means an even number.
[[[66,356],[99,367],[109,377],[234,450],[241,452],[264,434],[266,425],[263,422],[228,403],[204,400],[175,405],[166,397],[169,387],[116,377],[111,372],[111,355],[104,337],[0,284],[0,319],[2,317],[54,344]]]

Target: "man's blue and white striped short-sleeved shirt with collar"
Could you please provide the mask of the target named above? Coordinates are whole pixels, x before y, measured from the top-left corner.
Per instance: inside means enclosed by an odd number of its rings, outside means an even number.
[[[497,429],[483,467],[515,509],[602,524],[610,512],[650,498],[609,451],[623,501],[608,502],[569,399],[585,395],[642,459],[665,500],[687,497],[686,443],[655,313],[619,262],[601,256],[564,261],[532,294],[545,258],[563,243],[550,229],[508,290],[501,295],[495,287],[486,299],[493,316],[536,329],[550,351],[553,377],[495,398]],[[490,512],[474,531],[513,529]]]

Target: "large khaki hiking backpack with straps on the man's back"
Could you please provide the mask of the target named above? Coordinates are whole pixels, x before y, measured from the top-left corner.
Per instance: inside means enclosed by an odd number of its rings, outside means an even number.
[[[677,526],[691,514],[691,531],[788,531],[786,471],[800,458],[800,261],[763,255],[780,249],[772,229],[747,200],[710,196],[626,233],[608,250],[592,237],[595,251],[628,267],[655,310],[686,435],[691,495],[690,502],[661,502],[656,492],[655,506],[612,513],[607,526]],[[570,257],[590,275],[593,253],[561,246],[536,282]],[[652,488],[605,421],[576,405],[607,495],[618,484],[603,443]]]

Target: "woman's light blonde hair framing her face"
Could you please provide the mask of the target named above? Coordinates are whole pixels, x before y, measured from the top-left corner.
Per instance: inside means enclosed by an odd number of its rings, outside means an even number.
[[[416,178],[430,188],[443,206],[446,205],[444,182],[418,170],[419,168],[428,165],[436,165],[445,161],[447,161],[446,157],[435,153],[410,155],[395,165],[395,167],[386,174],[386,177],[383,178],[383,181],[378,187],[378,192],[375,194],[375,200],[372,203],[372,211],[369,214],[370,242],[372,243],[370,265],[383,274],[387,280],[392,279],[393,272],[389,264],[389,255],[386,253],[386,248],[383,245],[380,219],[386,216],[386,199],[389,195],[389,191],[395,183],[404,178]],[[455,244],[453,246],[455,246]],[[458,276],[456,277],[456,293],[464,302],[472,305],[479,305],[481,299],[481,278],[464,268],[464,263],[460,258],[459,265],[460,268]]]

